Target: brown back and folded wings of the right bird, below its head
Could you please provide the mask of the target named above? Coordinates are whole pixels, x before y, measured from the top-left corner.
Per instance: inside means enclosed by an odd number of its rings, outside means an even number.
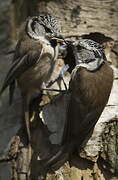
[[[111,92],[113,71],[107,62],[96,72],[79,67],[70,82],[71,99],[67,110],[66,141],[80,146],[98,121]]]

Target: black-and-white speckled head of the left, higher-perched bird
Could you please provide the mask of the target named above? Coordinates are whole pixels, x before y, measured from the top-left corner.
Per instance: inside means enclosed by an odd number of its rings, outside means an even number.
[[[47,42],[63,42],[60,35],[61,26],[58,21],[49,14],[40,14],[27,20],[26,31],[30,38],[45,40]]]

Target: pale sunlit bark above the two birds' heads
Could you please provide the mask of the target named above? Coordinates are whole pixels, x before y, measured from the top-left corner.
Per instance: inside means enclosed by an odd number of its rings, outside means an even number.
[[[42,4],[43,1],[37,5],[39,11],[42,10]],[[118,38],[117,0],[47,1],[44,6],[60,19],[66,36],[99,32],[116,40]]]

